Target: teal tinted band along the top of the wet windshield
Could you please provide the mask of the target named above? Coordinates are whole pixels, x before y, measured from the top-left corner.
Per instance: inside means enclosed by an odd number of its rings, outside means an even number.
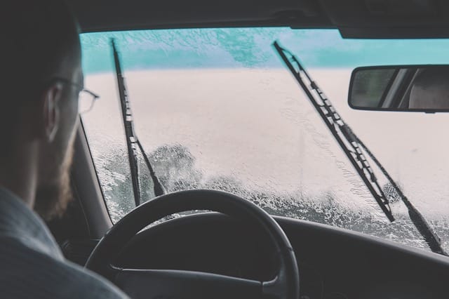
[[[113,70],[111,38],[125,70],[283,67],[272,43],[278,40],[306,67],[449,64],[449,39],[342,39],[335,29],[170,29],[81,35],[86,74]]]

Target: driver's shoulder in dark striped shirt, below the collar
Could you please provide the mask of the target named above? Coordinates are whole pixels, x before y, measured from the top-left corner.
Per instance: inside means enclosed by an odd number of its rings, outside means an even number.
[[[1,238],[0,293],[8,298],[126,298],[116,286],[79,265]]]

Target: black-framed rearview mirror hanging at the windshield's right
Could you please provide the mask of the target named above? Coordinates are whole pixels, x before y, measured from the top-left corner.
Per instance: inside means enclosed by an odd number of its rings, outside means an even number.
[[[358,67],[348,98],[354,109],[449,112],[449,65]]]

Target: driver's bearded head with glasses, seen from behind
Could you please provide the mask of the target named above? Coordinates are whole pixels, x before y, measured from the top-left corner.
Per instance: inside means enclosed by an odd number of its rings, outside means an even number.
[[[16,167],[35,173],[32,205],[50,219],[65,210],[70,197],[83,86],[79,28],[63,1],[6,2],[0,13],[0,159],[16,161],[21,155],[23,163],[32,164]]]

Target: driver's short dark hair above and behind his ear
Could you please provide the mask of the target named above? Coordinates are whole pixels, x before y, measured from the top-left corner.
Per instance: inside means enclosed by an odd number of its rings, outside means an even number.
[[[0,9],[0,137],[24,100],[38,96],[67,55],[79,51],[79,27],[62,0],[3,0]],[[4,142],[2,141],[4,144]]]

